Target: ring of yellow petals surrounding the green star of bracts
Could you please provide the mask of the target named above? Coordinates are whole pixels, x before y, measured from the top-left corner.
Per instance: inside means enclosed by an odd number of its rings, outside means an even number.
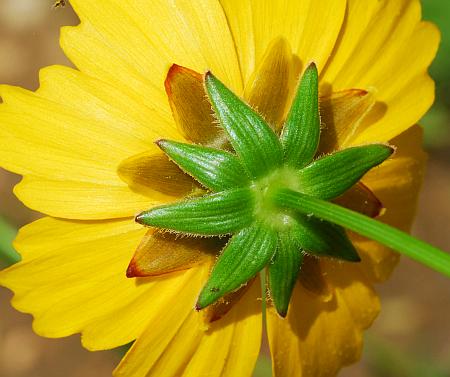
[[[72,5],[81,24],[63,29],[61,45],[78,69],[43,69],[35,93],[0,89],[0,165],[24,176],[15,189],[20,200],[49,216],[20,231],[15,245],[23,261],[3,271],[0,282],[42,336],[81,333],[90,350],[135,341],[116,376],[250,376],[262,337],[259,284],[209,323],[194,310],[209,263],[156,277],[125,274],[147,233],[134,215],[180,192],[148,179],[133,185],[134,173],[122,171],[122,179],[118,168],[139,171],[132,162],[156,154],[154,141],[162,137],[184,140],[180,123],[196,120],[192,109],[201,106],[187,102],[189,90],[168,101],[170,67],[212,70],[276,126],[291,95],[283,88],[316,62],[322,152],[397,146],[394,158],[363,182],[385,207],[380,219],[408,230],[424,165],[421,131],[412,126],[433,102],[427,67],[438,31],[421,22],[418,0]],[[180,115],[179,106],[192,113]],[[346,200],[351,207],[356,199]],[[372,285],[388,277],[397,255],[352,239],[360,264],[310,260],[287,318],[269,305],[275,376],[332,376],[359,358],[362,331],[379,311]]]

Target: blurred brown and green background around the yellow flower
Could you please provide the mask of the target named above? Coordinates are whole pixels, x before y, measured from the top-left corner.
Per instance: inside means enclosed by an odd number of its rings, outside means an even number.
[[[450,245],[450,1],[423,0],[424,18],[442,32],[431,74],[437,99],[421,124],[429,153],[414,234],[433,245]],[[28,89],[38,86],[38,70],[70,65],[59,45],[59,28],[76,25],[70,4],[53,9],[52,0],[0,0],[0,83]],[[37,218],[12,194],[19,177],[0,169],[0,238]],[[5,244],[5,242],[1,242]],[[0,268],[17,256],[0,250]],[[383,310],[366,333],[361,363],[343,377],[449,377],[450,281],[406,258],[388,283],[377,287]],[[90,353],[79,336],[44,339],[31,330],[31,317],[13,310],[11,293],[0,288],[1,377],[107,377],[123,351]],[[262,355],[255,377],[269,377],[270,360]]]

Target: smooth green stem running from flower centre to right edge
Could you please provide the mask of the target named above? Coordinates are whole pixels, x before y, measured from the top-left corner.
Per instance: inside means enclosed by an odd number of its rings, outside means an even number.
[[[281,207],[341,225],[450,277],[450,254],[389,225],[289,189],[273,192],[271,200]]]

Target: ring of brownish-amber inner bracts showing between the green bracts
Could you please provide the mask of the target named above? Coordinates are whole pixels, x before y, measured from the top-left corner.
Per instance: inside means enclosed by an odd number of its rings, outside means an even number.
[[[283,125],[300,72],[300,60],[292,54],[289,44],[284,39],[277,39],[269,46],[245,86],[244,99],[277,133]],[[167,74],[165,88],[175,122],[187,142],[228,148],[223,130],[215,124],[201,74],[173,65]],[[321,97],[319,102],[322,133],[318,155],[348,147],[362,120],[375,104],[373,95],[361,89],[332,93]],[[162,152],[132,156],[122,162],[118,174],[132,190],[144,195],[160,192],[177,200],[204,192]],[[380,201],[362,183],[335,202],[371,217],[378,216],[382,210]],[[149,230],[130,262],[127,276],[156,276],[185,270],[200,263],[212,265],[225,243],[224,239],[193,238]],[[332,288],[328,286],[321,261],[317,258],[305,257],[299,281],[321,300],[327,301],[332,297]],[[252,283],[250,281],[207,308],[206,320],[214,321],[225,315]]]

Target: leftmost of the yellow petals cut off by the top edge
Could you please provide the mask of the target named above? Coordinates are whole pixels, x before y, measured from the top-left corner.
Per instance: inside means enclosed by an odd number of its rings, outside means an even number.
[[[83,72],[170,108],[164,80],[173,63],[197,72],[211,69],[242,90],[227,20],[216,1],[101,0],[71,2],[81,24],[63,30],[65,53]],[[130,43],[132,41],[132,43]],[[218,48],[220,41],[220,48]]]

